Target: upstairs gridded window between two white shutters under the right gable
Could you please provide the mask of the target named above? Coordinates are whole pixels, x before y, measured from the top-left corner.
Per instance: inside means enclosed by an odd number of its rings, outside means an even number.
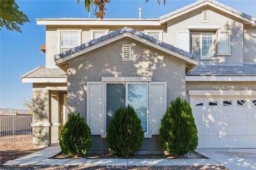
[[[213,56],[213,33],[190,33],[190,53]]]

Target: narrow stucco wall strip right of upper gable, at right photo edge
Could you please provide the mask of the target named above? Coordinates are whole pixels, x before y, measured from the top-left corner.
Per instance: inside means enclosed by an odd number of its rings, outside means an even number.
[[[244,25],[244,63],[256,64],[256,26]]]

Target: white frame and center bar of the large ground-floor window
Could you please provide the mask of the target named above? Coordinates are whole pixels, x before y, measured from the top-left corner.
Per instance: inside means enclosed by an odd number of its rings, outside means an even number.
[[[104,108],[104,134],[101,135],[101,138],[106,138],[106,133],[107,133],[107,84],[118,84],[118,83],[123,83],[125,84],[125,106],[128,106],[128,84],[147,84],[147,94],[146,94],[146,98],[147,98],[147,132],[144,133],[144,138],[151,138],[151,135],[149,134],[149,89],[148,89],[148,82],[105,82],[105,108]]]

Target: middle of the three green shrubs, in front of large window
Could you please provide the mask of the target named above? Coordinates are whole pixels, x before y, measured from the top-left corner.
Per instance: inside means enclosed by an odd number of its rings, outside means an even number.
[[[141,121],[133,107],[119,107],[107,130],[107,142],[111,151],[128,157],[140,149],[143,138]]]

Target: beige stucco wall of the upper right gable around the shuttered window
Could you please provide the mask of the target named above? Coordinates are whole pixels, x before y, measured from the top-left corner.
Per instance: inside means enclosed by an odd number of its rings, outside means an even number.
[[[220,60],[201,60],[201,64],[243,64],[243,22],[214,8],[201,7],[167,22],[166,43],[177,46],[177,31],[186,31],[187,25],[219,25],[222,31],[231,31],[231,56],[219,56]],[[209,10],[209,22],[202,22],[202,10]],[[218,12],[218,13],[217,13]],[[191,30],[190,32],[194,32]],[[214,32],[214,44],[217,34]],[[218,57],[218,45],[214,47],[214,56]]]

